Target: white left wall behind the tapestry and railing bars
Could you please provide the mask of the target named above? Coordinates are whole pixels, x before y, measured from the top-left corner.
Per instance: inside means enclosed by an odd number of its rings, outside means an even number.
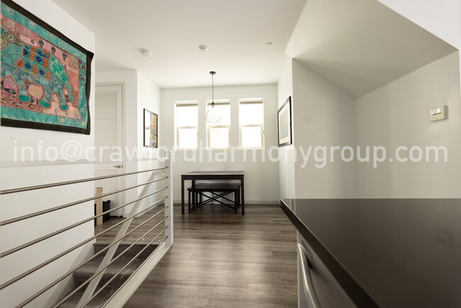
[[[90,33],[86,28],[80,25],[77,21],[69,16],[65,11],[62,11],[59,6],[50,0],[34,1],[34,0],[17,0],[18,4],[23,6],[28,11],[31,11],[45,22],[61,31],[74,42],[82,45],[82,47],[94,52],[95,39],[93,33]],[[91,65],[91,70],[94,76],[94,61]],[[94,112],[94,77],[91,78],[91,97],[89,101],[90,115]],[[91,127],[94,122],[91,119]],[[63,180],[76,180],[84,177],[92,177],[94,175],[92,165],[60,165],[60,166],[45,166],[45,167],[9,167],[5,168],[5,162],[14,160],[14,149],[20,149],[21,146],[31,146],[35,154],[35,160],[38,159],[38,153],[41,152],[43,158],[45,149],[39,150],[37,147],[39,141],[43,141],[45,148],[55,147],[60,149],[61,145],[66,141],[74,141],[82,146],[82,149],[94,145],[94,136],[91,134],[85,136],[76,133],[63,133],[56,131],[44,131],[28,128],[11,128],[0,127],[0,155],[2,163],[1,169],[1,189],[13,187],[23,187],[26,185],[39,185],[45,182],[60,182]],[[21,150],[19,150],[21,153]],[[58,152],[59,153],[59,152]],[[57,160],[62,159],[62,155],[57,155]],[[28,156],[30,159],[30,156]],[[18,164],[21,165],[21,164]],[[94,189],[91,183],[81,185],[70,185],[56,189],[43,189],[41,191],[29,192],[26,194],[11,194],[1,197],[1,219],[9,219],[13,216],[27,214],[39,209],[48,209],[57,205],[90,197],[94,194]],[[22,196],[22,197],[20,197]],[[34,219],[28,219],[22,223],[9,226],[1,226],[0,246],[1,250],[13,248],[19,244],[26,243],[37,236],[42,236],[63,226],[68,226],[77,221],[81,221],[93,215],[94,206],[92,202],[79,204],[72,209],[56,211],[52,214],[45,214]],[[17,253],[16,256],[9,255],[1,258],[0,272],[1,282],[5,282],[11,277],[28,270],[35,265],[48,260],[52,256],[65,251],[67,248],[74,246],[76,243],[88,238],[94,232],[93,222],[79,226],[72,231],[62,233],[52,240],[38,243],[30,248]],[[30,276],[20,280],[16,285],[6,287],[0,291],[0,302],[4,307],[16,306],[22,299],[33,295],[34,292],[40,290],[56,277],[65,273],[74,258],[79,253],[79,250],[70,253],[67,257],[61,258],[52,267],[48,266],[31,274]],[[33,306],[41,307],[46,300],[46,297],[38,298]]]

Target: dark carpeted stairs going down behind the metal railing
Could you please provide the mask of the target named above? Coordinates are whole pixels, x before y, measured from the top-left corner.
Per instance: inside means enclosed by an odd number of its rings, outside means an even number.
[[[108,244],[106,243],[94,243],[94,253],[98,253],[102,249],[104,249]],[[126,250],[130,244],[128,243],[121,243],[113,259],[117,257],[120,253]],[[104,275],[102,276],[101,280],[99,281],[98,286],[96,287],[95,293],[108,282],[114,275],[116,275],[135,255],[137,255],[141,250],[145,248],[145,244],[135,244],[131,248],[123,253],[120,258],[115,260],[108,268],[104,271]],[[130,263],[124,270],[121,271],[120,274],[116,276],[114,280],[112,280],[109,285],[104,287],[94,299],[91,299],[91,302],[87,304],[86,307],[101,307],[115,292],[118,290],[121,285],[123,285],[130,275],[133,275],[135,270],[140,267],[140,265],[150,256],[150,254],[155,251],[157,248],[157,244],[151,244],[146,248],[140,255],[138,255],[133,262]],[[104,258],[105,253],[101,253],[98,255],[94,260],[91,260],[89,263],[79,268],[74,274],[74,286],[79,287],[83,282],[85,282],[89,277],[96,273],[97,268],[101,264],[101,261]],[[88,285],[88,284],[87,284]],[[62,308],[73,308],[77,307],[77,303],[79,302],[80,298],[82,297],[84,290],[86,289],[87,285],[82,287],[79,291],[77,291],[72,297],[67,299],[63,302],[59,307]]]

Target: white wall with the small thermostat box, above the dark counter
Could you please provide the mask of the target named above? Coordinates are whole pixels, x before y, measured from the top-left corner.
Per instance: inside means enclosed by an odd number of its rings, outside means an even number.
[[[392,163],[359,165],[360,197],[461,197],[459,52],[452,53],[357,99],[357,143],[383,145]],[[448,105],[448,120],[431,122],[429,109]],[[396,148],[443,146],[448,162],[399,163]],[[409,151],[401,153],[409,157]],[[443,156],[443,155],[441,155]]]

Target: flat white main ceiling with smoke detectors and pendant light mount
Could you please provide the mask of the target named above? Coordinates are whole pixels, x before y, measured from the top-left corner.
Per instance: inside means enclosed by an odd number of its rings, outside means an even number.
[[[276,83],[306,0],[52,0],[96,35],[96,72],[159,87]],[[272,46],[266,43],[271,42]],[[199,45],[207,45],[203,53]],[[152,57],[143,57],[150,50]]]

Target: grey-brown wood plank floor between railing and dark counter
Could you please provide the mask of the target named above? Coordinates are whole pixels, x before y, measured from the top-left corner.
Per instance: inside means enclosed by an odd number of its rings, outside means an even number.
[[[172,248],[125,307],[297,307],[296,229],[278,205],[180,210]]]

